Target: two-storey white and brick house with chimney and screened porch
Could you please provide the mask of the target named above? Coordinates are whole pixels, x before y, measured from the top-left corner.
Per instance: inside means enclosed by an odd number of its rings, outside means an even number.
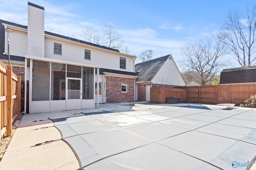
[[[10,40],[11,65],[22,76],[27,113],[135,101],[135,56],[44,31],[44,7],[30,2],[28,26],[0,22],[0,60],[8,63]]]

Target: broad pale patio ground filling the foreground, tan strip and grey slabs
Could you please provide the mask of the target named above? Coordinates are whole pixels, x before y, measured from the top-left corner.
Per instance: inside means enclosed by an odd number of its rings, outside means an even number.
[[[256,109],[137,102],[26,114],[0,169],[252,170],[255,156]]]

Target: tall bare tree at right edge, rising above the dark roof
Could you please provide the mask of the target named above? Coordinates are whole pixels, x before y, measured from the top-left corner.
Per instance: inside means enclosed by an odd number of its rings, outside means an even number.
[[[241,66],[250,66],[256,64],[255,34],[256,6],[252,10],[247,8],[244,13],[237,9],[230,11],[219,36],[228,49],[234,52]]]

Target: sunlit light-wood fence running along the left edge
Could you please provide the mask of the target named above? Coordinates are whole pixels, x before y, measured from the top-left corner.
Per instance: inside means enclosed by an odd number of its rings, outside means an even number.
[[[0,61],[0,140],[12,136],[12,122],[20,119],[21,77],[12,72],[12,66]]]

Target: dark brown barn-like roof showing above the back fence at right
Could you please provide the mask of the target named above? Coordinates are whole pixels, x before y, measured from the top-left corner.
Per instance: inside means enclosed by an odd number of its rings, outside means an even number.
[[[220,84],[256,83],[256,66],[223,69]]]

